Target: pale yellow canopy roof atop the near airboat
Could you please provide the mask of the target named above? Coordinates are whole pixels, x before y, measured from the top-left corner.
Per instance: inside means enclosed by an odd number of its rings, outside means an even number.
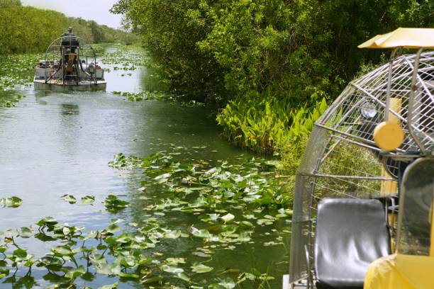
[[[434,48],[434,28],[398,28],[386,34],[377,35],[359,48]]]

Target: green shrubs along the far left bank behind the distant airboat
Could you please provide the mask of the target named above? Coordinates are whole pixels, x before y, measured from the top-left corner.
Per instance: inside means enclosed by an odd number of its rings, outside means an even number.
[[[67,17],[65,14],[22,6],[19,0],[0,0],[0,55],[43,52],[65,33],[68,26],[86,42],[131,44],[135,35],[99,25],[95,21]]]

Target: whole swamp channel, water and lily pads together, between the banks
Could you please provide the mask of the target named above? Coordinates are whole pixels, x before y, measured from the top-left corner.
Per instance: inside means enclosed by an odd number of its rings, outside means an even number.
[[[0,288],[282,288],[276,162],[166,94],[139,48],[101,52],[106,92],[34,91],[40,55],[2,60]]]

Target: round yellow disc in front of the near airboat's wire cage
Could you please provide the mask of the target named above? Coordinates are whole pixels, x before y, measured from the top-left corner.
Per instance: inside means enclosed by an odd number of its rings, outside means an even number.
[[[374,141],[380,149],[392,151],[404,141],[404,131],[399,124],[384,121],[375,128]]]

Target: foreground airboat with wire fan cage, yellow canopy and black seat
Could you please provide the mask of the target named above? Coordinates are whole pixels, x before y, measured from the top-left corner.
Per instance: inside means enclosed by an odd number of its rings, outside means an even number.
[[[359,47],[394,50],[313,128],[283,288],[434,288],[434,29]]]

